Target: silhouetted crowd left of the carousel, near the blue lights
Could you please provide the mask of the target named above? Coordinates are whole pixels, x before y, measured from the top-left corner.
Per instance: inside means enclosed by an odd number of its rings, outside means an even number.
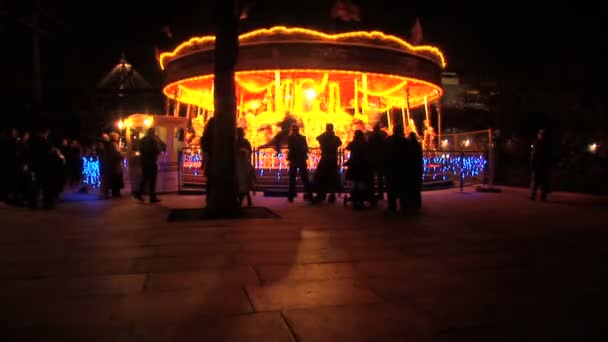
[[[143,201],[150,194],[156,203],[156,160],[162,149],[154,129],[140,142],[141,184],[133,196]],[[0,201],[31,208],[53,208],[66,189],[89,192],[99,186],[101,199],[119,198],[125,186],[123,162],[118,133],[104,133],[94,144],[82,145],[78,140],[62,139],[57,144],[48,128],[35,134],[17,129],[0,134]],[[98,177],[83,180],[84,161],[98,162]]]

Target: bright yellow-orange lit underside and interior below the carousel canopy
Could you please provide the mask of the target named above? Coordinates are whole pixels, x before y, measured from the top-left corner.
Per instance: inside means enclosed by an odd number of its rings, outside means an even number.
[[[370,130],[379,120],[389,120],[392,109],[401,110],[408,131],[417,132],[410,109],[437,100],[442,89],[422,80],[345,70],[289,69],[241,71],[235,74],[237,125],[245,129],[254,147],[268,143],[290,115],[301,127],[310,147],[325,124],[332,123],[343,143],[357,129]],[[179,91],[177,91],[179,89]],[[164,94],[213,115],[213,75],[192,77],[168,84]],[[198,117],[202,120],[201,116]],[[392,118],[388,125],[392,127]],[[197,129],[202,132],[204,121]]]

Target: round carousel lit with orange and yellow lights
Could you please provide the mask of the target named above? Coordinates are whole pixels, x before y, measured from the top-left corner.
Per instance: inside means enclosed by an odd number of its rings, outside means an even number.
[[[214,113],[214,42],[213,36],[194,37],[159,59],[166,74],[166,114],[188,121],[185,183],[204,183],[198,142]],[[316,137],[327,123],[345,145],[356,130],[379,124],[390,133],[402,124],[419,134],[426,151],[441,149],[436,142],[445,65],[437,47],[414,46],[378,31],[327,34],[277,26],[242,34],[235,68],[237,125],[254,147],[258,176],[277,182],[285,175],[284,151],[270,146],[293,124],[308,140],[312,171],[320,155]]]

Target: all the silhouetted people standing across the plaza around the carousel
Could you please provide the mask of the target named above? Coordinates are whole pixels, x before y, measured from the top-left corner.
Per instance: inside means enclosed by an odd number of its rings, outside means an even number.
[[[204,171],[208,176],[208,190],[213,186],[208,169],[213,129],[214,120],[211,119],[201,137],[204,159],[207,161]],[[286,130],[275,139],[273,146],[277,153],[284,147],[288,150],[288,201],[293,202],[297,197],[296,180],[299,176],[304,200],[313,204],[335,202],[336,194],[343,192],[339,166],[339,149],[343,144],[335,134],[333,125],[327,124],[325,132],[317,137],[321,158],[312,179],[308,174],[307,139],[295,124],[290,126],[288,133]],[[69,142],[63,139],[60,144],[54,144],[50,133],[49,129],[40,129],[33,135],[20,133],[17,129],[2,132],[0,153],[6,159],[0,164],[0,200],[10,205],[36,208],[42,204],[43,208],[52,208],[66,187],[79,187],[79,191],[87,191],[81,182],[83,160],[93,155],[99,160],[101,198],[121,197],[125,155],[121,152],[117,133],[103,134],[96,144],[84,148],[77,140]],[[375,206],[378,200],[384,200],[385,193],[390,211],[396,211],[398,207],[401,211],[421,208],[423,153],[419,137],[415,132],[406,136],[404,127],[399,124],[393,127],[392,133],[389,136],[376,125],[372,132],[357,130],[353,140],[346,145],[349,158],[344,164],[345,179],[351,185],[348,199],[356,209],[364,208],[368,203]],[[536,199],[539,189],[541,200],[545,200],[551,192],[549,179],[552,162],[546,141],[545,130],[541,130],[531,155],[532,200]],[[154,128],[149,128],[139,141],[141,182],[136,184],[132,194],[140,201],[144,201],[143,194],[148,193],[151,203],[159,202],[156,195],[157,161],[163,145]],[[247,206],[252,206],[255,170],[251,162],[252,146],[245,138],[243,129],[237,129],[235,153],[235,200],[239,205],[246,200]]]

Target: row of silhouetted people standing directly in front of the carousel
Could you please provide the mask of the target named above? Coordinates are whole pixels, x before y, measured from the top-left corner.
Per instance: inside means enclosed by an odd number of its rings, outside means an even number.
[[[201,137],[208,192],[214,183],[209,169],[212,162],[214,126],[215,122],[212,118]],[[308,174],[307,139],[300,134],[298,125],[283,128],[267,146],[275,148],[277,153],[287,147],[289,202],[293,202],[297,197],[298,176],[303,184],[304,200],[313,204],[324,201],[335,202],[336,194],[343,191],[339,166],[339,149],[343,143],[335,134],[332,124],[326,125],[325,132],[317,137],[317,141],[321,158],[312,179]],[[379,125],[373,132],[357,130],[353,141],[347,144],[346,150],[350,152],[350,157],[345,163],[346,180],[352,185],[349,200],[352,201],[354,208],[362,209],[366,203],[375,205],[377,200],[384,199],[385,192],[388,208],[391,211],[396,211],[398,207],[402,211],[421,207],[422,146],[414,132],[406,137],[402,125],[395,125],[391,136],[381,130]],[[248,206],[252,205],[250,192],[254,189],[255,172],[251,155],[251,143],[245,138],[244,131],[238,129],[235,164],[238,188],[236,200],[240,205],[243,204],[244,199],[247,199]]]

